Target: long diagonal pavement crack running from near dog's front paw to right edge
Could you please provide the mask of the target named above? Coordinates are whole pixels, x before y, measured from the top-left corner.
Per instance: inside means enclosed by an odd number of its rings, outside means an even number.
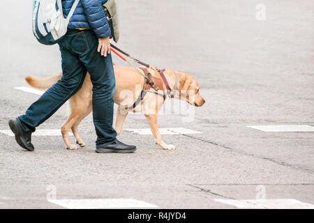
[[[269,158],[269,157],[264,157],[264,156],[261,156],[261,155],[256,155],[256,154],[252,154],[252,153],[246,153],[245,151],[241,151],[237,148],[231,148],[229,146],[224,146],[224,145],[221,145],[221,144],[218,144],[214,141],[209,141],[209,140],[205,140],[205,139],[199,139],[197,137],[193,137],[191,135],[188,135],[188,134],[182,134],[184,135],[185,137],[190,137],[192,139],[196,139],[196,140],[199,140],[199,141],[204,141],[208,144],[212,144],[214,146],[219,146],[219,147],[222,147],[222,148],[226,148],[230,151],[234,151],[236,153],[241,153],[243,155],[248,155],[248,156],[251,156],[251,157],[255,157],[255,158],[258,158],[258,159],[262,159],[262,160],[267,160],[267,161],[270,161],[270,162],[274,162],[276,164],[280,164],[280,165],[283,165],[285,167],[290,167],[290,168],[293,168],[293,169],[298,169],[298,170],[301,170],[301,171],[307,171],[307,172],[310,172],[311,174],[314,173],[314,170],[313,169],[308,169],[308,168],[304,168],[304,167],[299,167],[297,165],[294,165],[294,164],[290,164],[290,163],[287,163],[287,162],[282,162],[282,161],[277,161],[277,160],[274,160],[272,158]]]

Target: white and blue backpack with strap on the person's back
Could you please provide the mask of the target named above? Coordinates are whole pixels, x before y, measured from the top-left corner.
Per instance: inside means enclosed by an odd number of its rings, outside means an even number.
[[[54,45],[68,30],[68,23],[80,0],[75,0],[66,19],[61,0],[36,0],[33,2],[33,35],[39,43]]]

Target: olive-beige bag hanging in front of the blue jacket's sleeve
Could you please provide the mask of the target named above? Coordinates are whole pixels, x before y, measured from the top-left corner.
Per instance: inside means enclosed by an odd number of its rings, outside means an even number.
[[[114,42],[118,43],[120,33],[116,1],[108,0],[106,3],[103,4],[103,10],[105,11],[105,15],[110,26],[111,30],[110,38],[113,38]]]

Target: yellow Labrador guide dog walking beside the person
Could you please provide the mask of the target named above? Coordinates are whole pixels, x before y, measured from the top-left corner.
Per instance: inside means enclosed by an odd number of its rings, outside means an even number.
[[[156,69],[158,68],[147,68],[147,71],[152,77],[160,79],[160,74]],[[190,105],[196,107],[204,105],[205,100],[202,98],[199,91],[200,85],[191,75],[173,70],[164,70],[163,73],[172,89],[174,99],[186,100]],[[144,72],[142,72],[142,75],[144,75]],[[174,149],[176,148],[174,145],[165,144],[165,142],[161,140],[158,128],[158,111],[163,106],[165,100],[163,95],[149,92],[144,96],[139,105],[135,108],[132,107],[145,84],[145,78],[142,77],[142,75],[140,74],[140,69],[135,70],[135,68],[114,66],[114,76],[116,79],[114,102],[119,105],[114,129],[117,131],[117,134],[120,134],[128,112],[144,112],[144,116],[147,118],[151,132],[154,135],[155,143],[166,150]],[[58,75],[43,78],[27,76],[25,80],[30,86],[36,89],[48,89],[53,84],[56,84],[61,77],[62,73],[59,73]],[[92,87],[90,75],[87,72],[82,88],[69,100],[70,116],[68,116],[68,119],[63,124],[61,133],[66,148],[70,150],[78,148],[78,146],[70,144],[68,137],[70,129],[73,132],[76,143],[80,147],[85,146],[77,127],[80,122],[92,112]],[[166,93],[167,89],[165,83],[163,83],[162,88],[163,89],[160,90]],[[140,89],[140,92],[138,92],[138,89]],[[128,109],[129,107],[132,109]]]

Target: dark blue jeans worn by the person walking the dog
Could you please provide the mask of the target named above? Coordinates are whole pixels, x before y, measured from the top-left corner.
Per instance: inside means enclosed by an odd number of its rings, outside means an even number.
[[[115,79],[111,54],[97,52],[98,38],[93,31],[68,29],[59,42],[62,78],[19,116],[22,127],[34,132],[59,107],[80,90],[87,71],[93,84],[93,120],[97,134],[96,148],[117,141],[112,128]]]

